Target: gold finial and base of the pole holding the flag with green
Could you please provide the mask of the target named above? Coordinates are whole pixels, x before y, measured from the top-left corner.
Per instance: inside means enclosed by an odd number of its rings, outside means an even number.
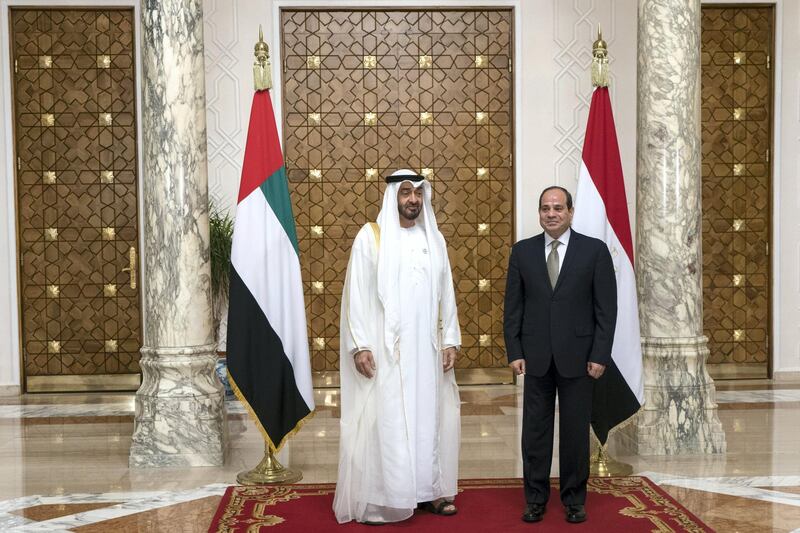
[[[258,26],[258,42],[254,54],[253,85],[256,91],[272,88],[272,72],[269,62],[269,46],[264,42],[264,32]],[[268,485],[278,483],[297,483],[303,479],[300,470],[284,467],[273,455],[268,442],[264,442],[264,457],[252,470],[239,472],[236,481],[240,485]]]

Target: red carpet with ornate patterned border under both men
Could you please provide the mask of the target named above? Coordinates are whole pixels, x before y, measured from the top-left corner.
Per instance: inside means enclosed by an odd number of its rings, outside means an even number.
[[[589,480],[583,524],[568,524],[554,480],[542,522],[522,522],[524,498],[520,479],[462,480],[456,497],[458,514],[436,516],[417,511],[405,522],[376,528],[350,522],[338,525],[331,505],[335,485],[228,487],[209,533],[294,531],[620,531],[625,533],[691,531],[711,528],[647,478],[619,477]]]

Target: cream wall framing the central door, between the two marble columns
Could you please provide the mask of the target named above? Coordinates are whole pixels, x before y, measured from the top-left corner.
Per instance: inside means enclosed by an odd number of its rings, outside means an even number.
[[[335,5],[396,7],[396,3],[344,1]],[[406,2],[404,5],[430,5]],[[579,5],[580,4],[580,5]],[[205,0],[206,91],[208,101],[209,191],[222,206],[235,204],[242,150],[252,98],[252,49],[263,24],[266,38],[281,6],[334,5],[331,2],[259,2]],[[633,215],[636,169],[636,1],[559,0],[441,3],[446,6],[515,6],[517,43],[515,76],[519,78],[515,167],[519,200],[518,235],[540,231],[535,204],[540,190],[559,183],[575,190],[592,87],[589,66],[597,24],[609,43],[612,98],[623,171]],[[277,57],[276,57],[277,56]],[[272,51],[275,77],[280,54]],[[273,91],[277,96],[280,88]],[[280,122],[280,120],[279,120]]]

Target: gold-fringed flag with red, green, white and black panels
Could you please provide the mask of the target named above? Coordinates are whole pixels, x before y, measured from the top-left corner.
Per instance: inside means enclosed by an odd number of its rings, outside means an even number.
[[[277,453],[314,412],[297,232],[269,91],[257,91],[233,228],[228,374]]]

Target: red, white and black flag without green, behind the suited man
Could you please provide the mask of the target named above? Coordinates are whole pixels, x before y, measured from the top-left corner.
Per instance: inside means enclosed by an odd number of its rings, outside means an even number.
[[[572,227],[608,245],[617,274],[612,361],[595,382],[592,404],[592,429],[605,444],[609,431],[644,404],[633,240],[608,87],[598,87],[592,95]]]

